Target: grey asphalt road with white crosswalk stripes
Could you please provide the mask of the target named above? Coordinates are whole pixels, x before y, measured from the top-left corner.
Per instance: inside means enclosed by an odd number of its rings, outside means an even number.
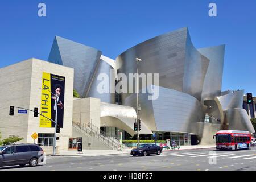
[[[162,155],[47,156],[46,165],[1,167],[8,171],[234,171],[256,170],[256,147],[251,150],[212,149],[163,151]]]

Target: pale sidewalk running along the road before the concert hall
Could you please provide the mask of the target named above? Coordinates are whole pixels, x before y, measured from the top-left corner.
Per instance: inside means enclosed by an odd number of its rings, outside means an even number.
[[[163,150],[163,152],[172,152],[172,151],[180,151],[180,150],[196,150],[196,149],[203,149],[203,148],[216,148],[216,146],[180,146],[180,149],[177,150]],[[131,148],[124,149],[123,151],[119,150],[82,150],[82,153],[79,154],[76,150],[70,151],[61,151],[60,154],[62,156],[67,155],[81,155],[81,156],[100,156],[100,155],[118,155],[118,154],[130,154]]]

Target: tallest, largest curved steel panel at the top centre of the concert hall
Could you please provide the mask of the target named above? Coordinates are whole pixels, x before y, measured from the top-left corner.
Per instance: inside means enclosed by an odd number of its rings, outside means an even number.
[[[188,28],[181,28],[147,40],[117,57],[118,73],[159,73],[159,86],[185,92],[201,101],[209,59],[193,46]],[[143,89],[140,87],[140,89]],[[122,94],[125,100],[130,94]]]

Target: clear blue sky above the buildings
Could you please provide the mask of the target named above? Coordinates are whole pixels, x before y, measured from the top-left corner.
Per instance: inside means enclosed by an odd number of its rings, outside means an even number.
[[[38,4],[47,17],[39,18]],[[217,17],[208,16],[210,2]],[[2,0],[0,68],[35,57],[47,60],[55,35],[119,53],[154,36],[188,27],[197,48],[226,44],[222,90],[256,96],[255,0]]]

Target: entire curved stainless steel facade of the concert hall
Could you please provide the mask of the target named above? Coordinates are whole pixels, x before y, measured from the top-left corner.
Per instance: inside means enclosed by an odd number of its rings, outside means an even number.
[[[143,60],[138,64],[139,74],[159,74],[159,85],[152,83],[159,88],[158,99],[148,100],[148,93],[139,94],[142,133],[197,134],[205,144],[214,142],[212,134],[220,129],[255,132],[242,109],[243,90],[221,92],[224,55],[225,45],[195,48],[188,28],[181,28],[139,43],[116,60],[97,49],[56,37],[48,60],[75,69],[74,86],[82,97],[101,99],[102,126],[119,127],[133,135],[137,94],[119,94],[121,105],[116,105],[117,94],[110,91],[111,82],[121,80],[119,73],[127,78],[136,73],[135,58],[139,57]],[[112,79],[109,93],[98,93],[101,73]],[[139,89],[148,90],[142,85]]]

